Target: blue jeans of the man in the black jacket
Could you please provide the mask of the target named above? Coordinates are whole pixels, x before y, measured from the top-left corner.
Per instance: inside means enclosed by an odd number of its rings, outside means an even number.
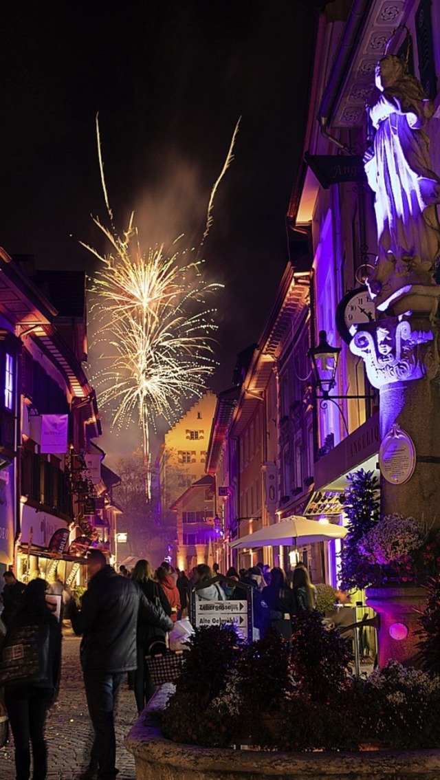
[[[115,703],[126,672],[83,672],[87,707],[94,728],[94,743],[90,754],[90,769],[99,767],[102,780],[113,780],[117,775]]]

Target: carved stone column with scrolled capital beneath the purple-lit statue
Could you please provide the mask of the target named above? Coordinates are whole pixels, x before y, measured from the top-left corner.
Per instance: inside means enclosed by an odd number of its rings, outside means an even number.
[[[438,321],[428,314],[388,317],[362,326],[350,343],[380,394],[380,437],[396,424],[416,451],[403,484],[381,478],[381,514],[399,512],[440,526],[440,390]]]

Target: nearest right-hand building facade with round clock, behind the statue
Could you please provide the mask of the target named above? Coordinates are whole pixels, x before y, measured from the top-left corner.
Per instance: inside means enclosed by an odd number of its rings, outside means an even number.
[[[325,331],[328,343],[341,347],[330,400],[320,402],[320,388],[314,386],[318,458],[307,512],[316,516],[320,511],[337,516],[348,473],[363,467],[380,477],[378,391],[349,347],[350,327],[361,328],[375,317],[365,286],[378,254],[374,193],[363,159],[374,127],[365,107],[378,94],[378,60],[385,51],[399,55],[434,101],[428,134],[432,167],[440,171],[439,13],[438,4],[429,0],[336,0],[319,17],[303,164],[289,207],[292,228],[310,233],[310,346]],[[339,543],[333,546],[329,581],[337,583]]]

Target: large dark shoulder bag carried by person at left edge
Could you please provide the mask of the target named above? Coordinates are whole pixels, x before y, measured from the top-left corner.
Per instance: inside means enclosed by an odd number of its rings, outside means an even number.
[[[0,686],[34,685],[48,679],[48,623],[10,628],[2,644]]]

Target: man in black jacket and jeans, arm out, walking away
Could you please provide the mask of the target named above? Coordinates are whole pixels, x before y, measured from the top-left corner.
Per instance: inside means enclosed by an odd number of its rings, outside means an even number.
[[[141,593],[133,580],[121,577],[107,566],[105,555],[98,550],[87,558],[88,587],[83,594],[80,612],[72,606],[73,630],[82,634],[80,660],[90,720],[94,727],[94,744],[90,765],[81,780],[113,780],[116,743],[115,700],[126,672],[137,667],[136,629],[140,610],[151,624],[164,631],[172,629],[165,613]]]

